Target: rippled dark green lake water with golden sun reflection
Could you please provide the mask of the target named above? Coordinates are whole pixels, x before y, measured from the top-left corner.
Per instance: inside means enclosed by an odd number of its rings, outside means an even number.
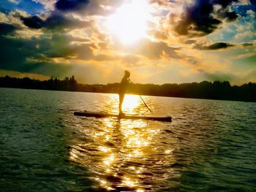
[[[163,123],[72,114],[117,112],[114,94],[0,94],[1,191],[256,191],[255,103],[143,96]]]

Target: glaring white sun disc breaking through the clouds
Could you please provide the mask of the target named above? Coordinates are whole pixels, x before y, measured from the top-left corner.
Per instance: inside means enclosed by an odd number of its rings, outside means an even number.
[[[149,6],[146,0],[134,0],[118,7],[107,18],[107,28],[114,39],[130,45],[146,37],[149,19]]]

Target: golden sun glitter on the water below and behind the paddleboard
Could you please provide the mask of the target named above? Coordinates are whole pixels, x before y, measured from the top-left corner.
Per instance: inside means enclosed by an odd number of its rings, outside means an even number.
[[[140,107],[138,99],[128,96],[124,109],[135,112]],[[162,145],[161,124],[115,118],[90,119],[87,123],[90,127],[85,124],[82,139],[74,139],[70,147],[69,160],[86,167],[100,188],[148,191],[154,183],[165,183],[167,175],[173,173],[173,149]]]

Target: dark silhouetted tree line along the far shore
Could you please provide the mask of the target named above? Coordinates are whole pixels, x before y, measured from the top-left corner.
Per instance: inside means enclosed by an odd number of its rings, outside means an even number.
[[[31,88],[58,91],[83,91],[93,93],[118,93],[119,83],[107,85],[81,84],[75,77],[65,77],[63,80],[51,77],[49,80],[31,80],[29,77],[0,77],[0,87]],[[256,101],[256,83],[248,82],[244,85],[230,85],[230,82],[191,82],[168,83],[163,85],[131,83],[127,93],[148,96],[173,96],[197,99],[218,99],[232,101]]]

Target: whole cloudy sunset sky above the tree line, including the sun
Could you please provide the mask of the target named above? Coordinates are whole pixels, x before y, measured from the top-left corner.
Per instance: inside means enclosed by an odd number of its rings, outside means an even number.
[[[0,76],[256,82],[255,0],[0,0]]]

